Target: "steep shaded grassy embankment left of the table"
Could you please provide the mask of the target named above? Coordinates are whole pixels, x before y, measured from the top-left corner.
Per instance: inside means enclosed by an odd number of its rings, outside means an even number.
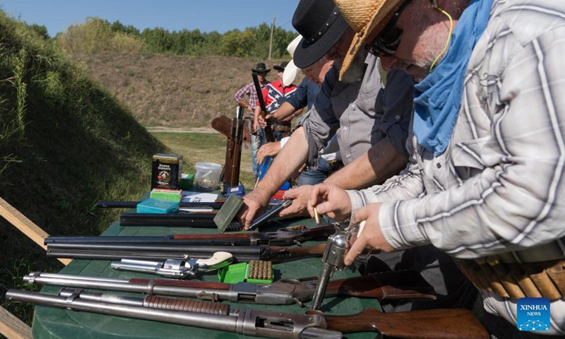
[[[96,201],[148,191],[151,157],[167,148],[49,40],[2,11],[0,31],[0,197],[49,234],[100,234],[119,211]],[[0,303],[30,321],[32,307],[4,292],[61,263],[4,218],[0,227]]]

